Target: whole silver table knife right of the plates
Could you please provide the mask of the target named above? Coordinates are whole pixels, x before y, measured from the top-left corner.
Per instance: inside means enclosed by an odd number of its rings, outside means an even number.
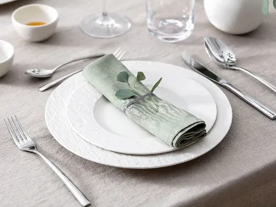
[[[203,75],[204,77],[210,79],[211,81],[214,81],[215,83],[218,83],[219,85],[223,86],[224,88],[227,88],[230,90],[230,92],[233,92],[235,95],[249,103],[251,106],[262,112],[264,115],[266,115],[270,119],[276,119],[276,113],[267,108],[266,106],[262,105],[262,103],[259,103],[252,97],[246,95],[246,93],[242,92],[242,90],[239,90],[235,86],[233,86],[231,83],[228,83],[228,81],[221,79],[221,77],[218,77],[213,73],[212,71],[208,70],[204,65],[202,65],[199,61],[195,59],[195,57],[192,57],[188,55],[186,52],[182,53],[182,58],[184,59],[185,63],[190,66],[190,68],[193,68],[193,70],[196,70],[199,74]]]

